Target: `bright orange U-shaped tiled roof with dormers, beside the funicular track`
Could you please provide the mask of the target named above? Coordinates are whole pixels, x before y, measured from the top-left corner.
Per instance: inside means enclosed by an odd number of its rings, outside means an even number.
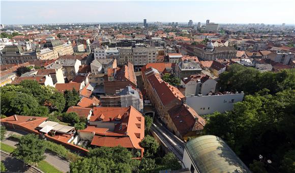
[[[144,137],[144,117],[134,107],[95,107],[93,113],[94,116],[90,118],[90,121],[99,121],[99,118],[102,118],[101,121],[119,121],[119,123],[115,125],[113,132],[108,131],[100,137],[95,135],[92,145],[106,147],[121,145],[127,148],[142,149],[139,143]],[[120,116],[122,116],[121,119],[115,120]]]

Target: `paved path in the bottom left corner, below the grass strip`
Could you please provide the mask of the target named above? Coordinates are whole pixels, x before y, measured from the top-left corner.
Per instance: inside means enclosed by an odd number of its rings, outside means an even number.
[[[40,171],[34,167],[31,167],[30,165],[27,165],[4,152],[1,152],[1,161],[4,163],[7,171],[9,172],[40,173]]]

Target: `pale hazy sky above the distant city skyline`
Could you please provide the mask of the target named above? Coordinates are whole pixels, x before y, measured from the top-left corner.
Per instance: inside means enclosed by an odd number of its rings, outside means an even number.
[[[295,24],[294,0],[1,1],[1,24],[205,22]]]

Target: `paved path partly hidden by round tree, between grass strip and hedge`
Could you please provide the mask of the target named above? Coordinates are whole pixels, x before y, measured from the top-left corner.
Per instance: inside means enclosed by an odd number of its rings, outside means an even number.
[[[11,131],[10,129],[7,129],[6,136],[9,137],[11,134],[24,135],[25,133],[20,132],[20,131],[16,131],[16,130]],[[9,140],[9,139],[5,139],[2,142],[4,144],[14,146],[14,147],[17,144],[17,142]],[[69,161],[67,161],[64,158],[59,157],[51,152],[48,152],[48,151],[45,151],[44,155],[46,156],[46,158],[44,160],[47,161],[52,166],[56,167],[58,170],[61,170],[63,172],[70,171],[70,162]]]

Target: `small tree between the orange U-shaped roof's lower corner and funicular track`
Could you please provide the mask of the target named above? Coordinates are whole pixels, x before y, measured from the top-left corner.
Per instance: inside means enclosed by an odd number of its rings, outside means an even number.
[[[150,135],[146,135],[144,139],[140,142],[141,147],[144,148],[144,155],[146,157],[153,156],[157,153],[159,148],[159,143]]]

